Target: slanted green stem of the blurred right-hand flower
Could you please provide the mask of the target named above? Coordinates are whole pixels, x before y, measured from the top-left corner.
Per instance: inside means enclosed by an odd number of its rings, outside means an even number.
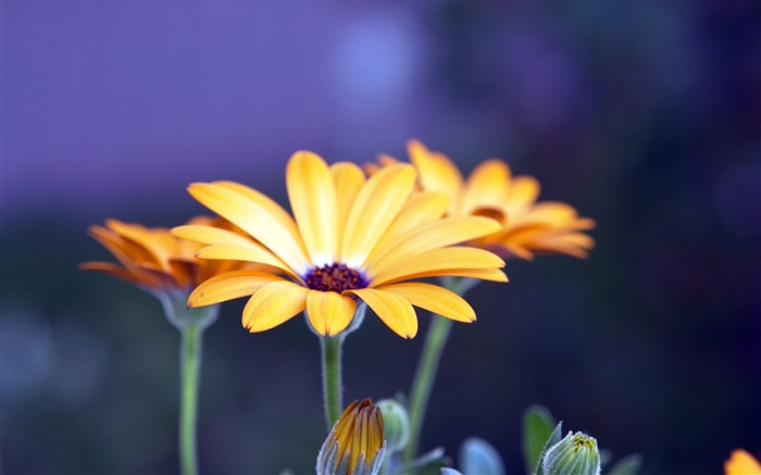
[[[477,280],[447,278],[442,279],[442,284],[444,287],[462,296],[477,284]],[[444,348],[447,346],[447,340],[452,329],[452,323],[453,321],[449,318],[432,315],[432,321],[425,335],[425,342],[423,343],[423,352],[417,362],[417,370],[415,371],[415,377],[412,380],[412,389],[410,391],[410,439],[402,453],[402,461],[404,463],[411,462],[417,454],[423,418],[425,417],[428,399],[431,399],[431,390],[436,379],[436,372],[438,371],[438,364],[441,360],[441,353],[444,353]]]

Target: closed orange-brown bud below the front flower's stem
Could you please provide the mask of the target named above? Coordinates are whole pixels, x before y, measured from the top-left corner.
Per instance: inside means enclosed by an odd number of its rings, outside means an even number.
[[[377,474],[386,441],[383,416],[373,401],[349,404],[317,455],[317,475]]]

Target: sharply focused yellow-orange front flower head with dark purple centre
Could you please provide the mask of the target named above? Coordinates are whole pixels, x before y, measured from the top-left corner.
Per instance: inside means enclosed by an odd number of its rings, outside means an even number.
[[[263,332],[307,311],[321,335],[336,335],[363,300],[398,335],[412,338],[412,305],[461,322],[475,321],[462,298],[413,278],[463,276],[506,282],[504,262],[459,242],[494,234],[500,226],[481,216],[442,218],[448,200],[416,192],[408,164],[366,178],[357,165],[328,166],[311,152],[288,162],[286,185],[294,217],[273,200],[232,182],[196,183],[190,195],[251,238],[208,226],[180,226],[176,236],[210,245],[201,259],[255,262],[269,272],[239,271],[213,277],[191,295],[191,307],[251,296],[242,314],[250,332]]]

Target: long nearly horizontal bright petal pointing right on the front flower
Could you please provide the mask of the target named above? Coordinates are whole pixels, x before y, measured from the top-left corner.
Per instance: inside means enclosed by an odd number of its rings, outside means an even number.
[[[370,275],[372,287],[420,277],[448,275],[450,268],[499,268],[504,261],[489,251],[466,247],[434,249],[412,255],[399,265],[387,266],[377,275]],[[432,274],[433,273],[433,274]]]

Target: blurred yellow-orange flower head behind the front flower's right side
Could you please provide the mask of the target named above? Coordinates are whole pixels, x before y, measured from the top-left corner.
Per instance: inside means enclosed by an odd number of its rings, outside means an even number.
[[[448,157],[417,140],[408,143],[408,152],[417,168],[421,188],[450,197],[449,215],[488,216],[502,225],[497,233],[467,245],[521,259],[533,259],[538,253],[586,258],[594,248],[595,240],[584,232],[594,228],[595,221],[579,217],[563,202],[537,202],[539,182],[532,176],[513,177],[503,161],[481,163],[465,180]],[[394,163],[395,159],[382,155],[379,165],[371,164],[367,170],[374,173]]]

